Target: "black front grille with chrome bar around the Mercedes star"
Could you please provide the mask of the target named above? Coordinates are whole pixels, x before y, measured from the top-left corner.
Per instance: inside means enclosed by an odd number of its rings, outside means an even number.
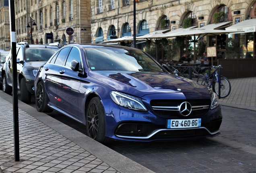
[[[151,107],[153,111],[162,117],[181,118],[179,106],[183,102],[188,102],[192,106],[192,112],[188,117],[197,117],[208,112],[211,104],[210,99],[194,100],[152,100]]]

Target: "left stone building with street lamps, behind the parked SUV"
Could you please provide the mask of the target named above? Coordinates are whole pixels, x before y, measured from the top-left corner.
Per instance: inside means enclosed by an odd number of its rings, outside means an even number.
[[[31,27],[34,44],[91,42],[90,0],[14,0],[14,3],[17,42],[31,43]],[[10,28],[8,6],[3,8],[7,8],[1,12],[5,16],[4,25]],[[4,35],[9,33],[10,29]],[[0,44],[4,44],[2,39]]]

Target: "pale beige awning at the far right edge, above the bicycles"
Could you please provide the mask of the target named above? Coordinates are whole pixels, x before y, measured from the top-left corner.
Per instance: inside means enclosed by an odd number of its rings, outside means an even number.
[[[256,19],[248,19],[226,28],[226,30],[235,30],[234,34],[256,32]],[[233,33],[232,33],[233,34]]]

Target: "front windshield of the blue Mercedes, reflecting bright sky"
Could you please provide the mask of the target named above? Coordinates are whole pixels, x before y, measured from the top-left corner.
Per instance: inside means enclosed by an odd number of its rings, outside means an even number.
[[[152,58],[141,50],[123,48],[85,48],[91,70],[125,70],[163,72]]]

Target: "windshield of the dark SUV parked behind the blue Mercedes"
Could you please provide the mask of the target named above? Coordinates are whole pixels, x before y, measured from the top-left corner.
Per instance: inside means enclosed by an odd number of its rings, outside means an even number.
[[[25,61],[47,61],[57,50],[57,48],[26,48]]]

